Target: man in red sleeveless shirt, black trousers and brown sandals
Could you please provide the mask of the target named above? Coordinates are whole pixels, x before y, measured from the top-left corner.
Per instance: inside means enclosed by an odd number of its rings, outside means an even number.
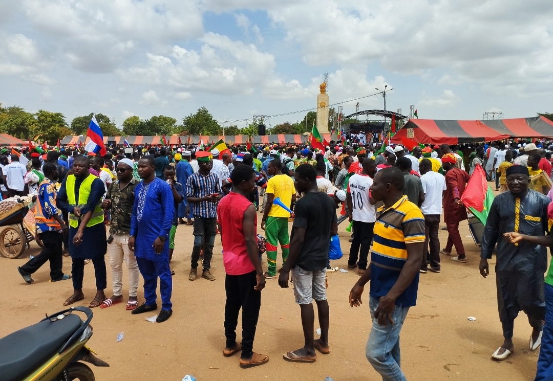
[[[240,367],[249,368],[269,361],[269,356],[252,352],[255,328],[261,307],[265,277],[257,248],[257,213],[248,195],[255,187],[252,167],[238,165],[231,173],[232,192],[221,199],[217,215],[221,222],[225,264],[225,336],[223,356],[242,351]],[[242,307],[242,343],[236,342],[238,313]]]

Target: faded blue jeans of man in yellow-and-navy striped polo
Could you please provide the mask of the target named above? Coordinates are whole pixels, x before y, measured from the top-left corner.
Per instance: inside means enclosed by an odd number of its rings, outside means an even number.
[[[405,375],[400,369],[399,332],[409,307],[402,308],[396,305],[392,314],[394,324],[388,323],[384,327],[378,325],[378,320],[374,319],[374,311],[377,309],[378,303],[379,301],[373,297],[369,299],[373,326],[365,348],[365,356],[374,370],[382,376],[383,381],[405,381]]]

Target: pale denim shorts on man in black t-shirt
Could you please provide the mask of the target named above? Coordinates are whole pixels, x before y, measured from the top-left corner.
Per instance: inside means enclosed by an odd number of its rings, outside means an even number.
[[[326,268],[316,271],[306,271],[299,266],[292,270],[294,295],[296,303],[311,304],[313,299],[326,300]]]

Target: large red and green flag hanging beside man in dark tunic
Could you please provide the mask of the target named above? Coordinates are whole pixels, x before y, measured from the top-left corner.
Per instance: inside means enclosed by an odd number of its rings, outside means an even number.
[[[489,209],[492,207],[493,193],[492,188],[488,186],[486,173],[479,164],[474,167],[471,179],[461,196],[461,202],[482,224],[486,225]]]

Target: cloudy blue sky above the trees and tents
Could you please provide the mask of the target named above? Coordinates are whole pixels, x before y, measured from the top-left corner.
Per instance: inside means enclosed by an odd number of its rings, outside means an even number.
[[[553,112],[553,2],[0,0],[0,102],[68,121],[291,113],[325,72],[331,104],[388,84],[387,108],[420,118]]]

